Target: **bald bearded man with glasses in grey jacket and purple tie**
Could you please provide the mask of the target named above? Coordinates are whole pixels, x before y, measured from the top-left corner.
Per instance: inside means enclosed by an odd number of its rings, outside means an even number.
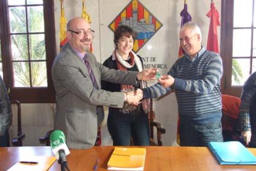
[[[67,43],[52,66],[56,92],[54,129],[64,132],[67,146],[72,149],[91,148],[95,144],[98,126],[104,119],[102,106],[122,108],[123,102],[137,105],[142,98],[133,92],[101,90],[101,79],[137,85],[137,80],[154,79],[157,72],[156,69],[123,72],[98,63],[88,51],[92,32],[87,20],[81,17],[70,19],[67,22]],[[84,60],[89,61],[93,76]]]

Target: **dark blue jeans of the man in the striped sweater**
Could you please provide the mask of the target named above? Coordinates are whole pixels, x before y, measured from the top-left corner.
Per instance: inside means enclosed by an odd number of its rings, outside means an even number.
[[[221,122],[202,125],[192,122],[180,123],[181,146],[208,146],[211,141],[223,141]]]

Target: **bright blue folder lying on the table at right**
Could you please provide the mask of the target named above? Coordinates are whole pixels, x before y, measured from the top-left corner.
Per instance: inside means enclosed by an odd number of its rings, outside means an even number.
[[[239,141],[210,142],[208,146],[219,164],[256,164],[256,157]]]

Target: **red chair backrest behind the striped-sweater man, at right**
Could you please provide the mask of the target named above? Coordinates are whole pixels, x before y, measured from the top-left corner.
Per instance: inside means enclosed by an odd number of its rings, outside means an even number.
[[[222,135],[224,141],[241,140],[238,129],[240,105],[240,98],[222,95]]]

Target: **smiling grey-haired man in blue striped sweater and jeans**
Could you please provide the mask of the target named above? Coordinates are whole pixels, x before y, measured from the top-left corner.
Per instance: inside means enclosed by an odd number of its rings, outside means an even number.
[[[158,98],[175,90],[180,114],[180,145],[207,146],[223,141],[219,54],[201,46],[201,30],[193,22],[180,30],[180,44],[185,55],[179,58],[159,83],[142,90],[143,98]]]

